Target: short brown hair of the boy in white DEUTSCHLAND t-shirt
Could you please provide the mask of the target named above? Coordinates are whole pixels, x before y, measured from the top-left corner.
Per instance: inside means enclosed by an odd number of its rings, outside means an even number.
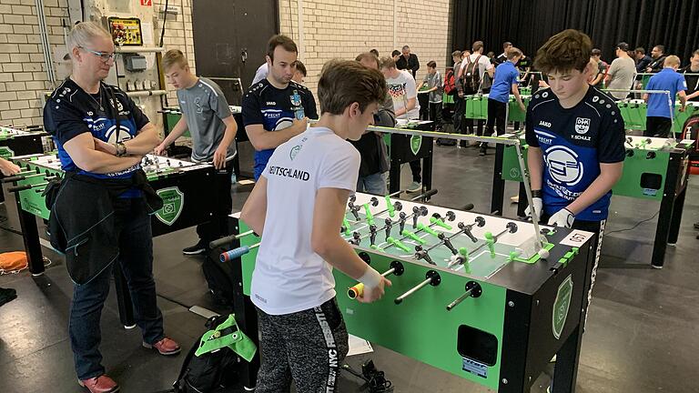
[[[342,115],[352,103],[364,112],[386,97],[386,79],[379,70],[351,60],[330,60],[323,65],[318,81],[320,114]]]

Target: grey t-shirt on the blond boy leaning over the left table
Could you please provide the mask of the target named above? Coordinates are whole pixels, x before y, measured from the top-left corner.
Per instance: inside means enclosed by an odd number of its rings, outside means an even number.
[[[221,88],[205,77],[188,89],[177,90],[177,101],[192,136],[192,160],[211,161],[226,133],[222,119],[231,116]],[[236,154],[236,144],[228,146],[226,159]]]

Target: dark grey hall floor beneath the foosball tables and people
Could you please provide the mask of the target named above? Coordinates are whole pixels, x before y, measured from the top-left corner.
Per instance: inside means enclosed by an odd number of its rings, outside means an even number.
[[[440,190],[432,203],[475,210],[490,206],[493,156],[480,157],[475,148],[436,146],[433,186]],[[696,183],[695,179],[692,179]],[[403,168],[403,184],[410,181]],[[506,195],[515,195],[508,185]],[[234,207],[242,207],[247,192],[238,192]],[[669,247],[663,270],[650,268],[659,204],[614,196],[607,235],[603,240],[602,267],[598,273],[587,331],[582,343],[579,393],[690,393],[699,392],[699,240],[692,224],[699,221],[699,186],[690,184],[680,238]],[[514,217],[514,208],[505,209]],[[0,227],[12,227],[0,206]],[[159,306],[167,334],[188,349],[203,330],[204,318],[187,310],[198,305],[225,311],[208,297],[199,257],[185,257],[180,249],[196,239],[193,229],[157,237],[154,242]],[[22,238],[0,230],[0,252],[23,249]],[[14,287],[18,298],[0,307],[0,392],[81,392],[76,385],[67,336],[67,314],[72,285],[60,257],[43,277],[28,272],[0,277],[0,287]],[[169,299],[169,300],[168,300]],[[184,307],[187,306],[187,307]],[[107,300],[102,319],[107,372],[122,391],[149,393],[165,390],[177,378],[183,356],[159,357],[140,347],[137,329],[119,324],[116,297]],[[400,393],[486,392],[441,370],[425,366],[384,348],[348,359],[355,368],[372,358]],[[542,374],[532,392],[545,391],[551,370]],[[359,392],[356,378],[345,376],[345,392]]]

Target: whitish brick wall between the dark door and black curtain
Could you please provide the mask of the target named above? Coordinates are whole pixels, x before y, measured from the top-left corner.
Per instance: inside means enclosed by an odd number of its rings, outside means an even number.
[[[450,0],[301,0],[301,5],[303,29],[299,31],[298,0],[279,1],[280,29],[299,46],[303,37],[299,59],[308,68],[306,85],[314,92],[322,65],[332,58],[353,59],[371,48],[381,56],[390,55],[393,49],[409,45],[420,59],[420,81],[427,62],[434,60],[441,70],[451,53]]]

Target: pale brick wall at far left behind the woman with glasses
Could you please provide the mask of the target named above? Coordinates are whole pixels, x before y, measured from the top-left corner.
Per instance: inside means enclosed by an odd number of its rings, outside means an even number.
[[[45,5],[49,41],[61,45],[67,2],[46,0]],[[46,76],[34,0],[0,0],[0,66],[0,124],[41,124],[41,93],[52,86]]]

